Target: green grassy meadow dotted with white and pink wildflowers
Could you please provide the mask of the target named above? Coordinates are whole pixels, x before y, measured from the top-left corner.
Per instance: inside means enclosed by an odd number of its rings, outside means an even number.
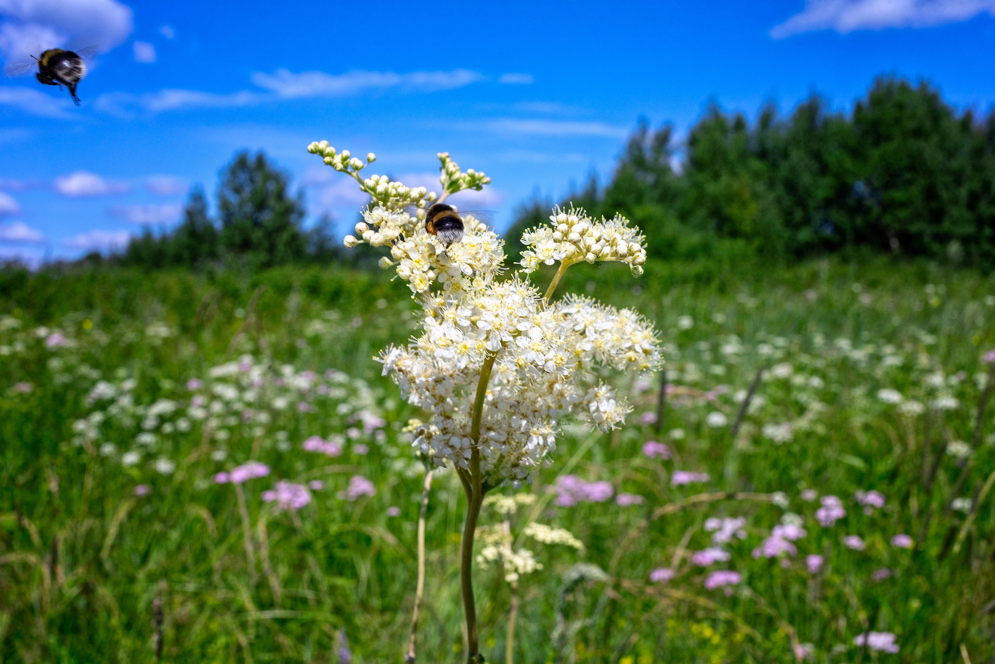
[[[626,426],[564,423],[489,497],[488,661],[512,588],[519,663],[995,661],[995,279],[651,261],[561,290],[655,321],[663,409],[659,373],[618,385]],[[418,311],[334,266],[0,271],[0,660],[403,661],[422,414],[373,356]],[[436,470],[420,662],[465,661],[465,509]]]

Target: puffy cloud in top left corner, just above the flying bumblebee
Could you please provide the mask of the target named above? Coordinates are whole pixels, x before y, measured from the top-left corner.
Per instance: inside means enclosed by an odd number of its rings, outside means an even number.
[[[117,0],[0,0],[5,71],[45,49],[97,47],[105,53],[131,34],[131,10]]]

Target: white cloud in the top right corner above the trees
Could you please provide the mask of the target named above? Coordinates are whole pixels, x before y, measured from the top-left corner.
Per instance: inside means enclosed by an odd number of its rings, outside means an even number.
[[[926,28],[957,23],[987,12],[995,15],[995,0],[807,0],[805,9],[770,29],[783,39],[813,30]]]

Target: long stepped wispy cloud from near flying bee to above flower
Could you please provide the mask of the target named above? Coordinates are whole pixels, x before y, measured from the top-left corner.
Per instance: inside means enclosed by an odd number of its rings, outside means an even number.
[[[349,97],[372,91],[396,90],[401,93],[432,93],[454,90],[484,80],[484,75],[470,70],[451,72],[301,72],[277,70],[273,74],[256,73],[252,82],[260,90],[243,90],[229,94],[196,90],[161,90],[146,95],[106,93],[95,108],[127,116],[136,111],[162,112],[183,109],[232,109],[256,104],[318,97]]]

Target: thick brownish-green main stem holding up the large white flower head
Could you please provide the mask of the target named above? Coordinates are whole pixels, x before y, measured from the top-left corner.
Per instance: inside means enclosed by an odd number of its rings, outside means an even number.
[[[494,368],[497,352],[489,351],[481,367],[481,377],[477,382],[477,395],[474,398],[474,414],[470,425],[473,449],[470,453],[469,477],[460,474],[463,488],[467,491],[467,522],[463,529],[463,544],[460,557],[460,585],[463,590],[463,610],[467,620],[467,661],[478,662],[480,646],[477,637],[477,606],[474,601],[474,535],[477,532],[477,519],[484,503],[484,480],[481,476],[481,419],[484,414],[484,401],[488,395],[488,382]]]

